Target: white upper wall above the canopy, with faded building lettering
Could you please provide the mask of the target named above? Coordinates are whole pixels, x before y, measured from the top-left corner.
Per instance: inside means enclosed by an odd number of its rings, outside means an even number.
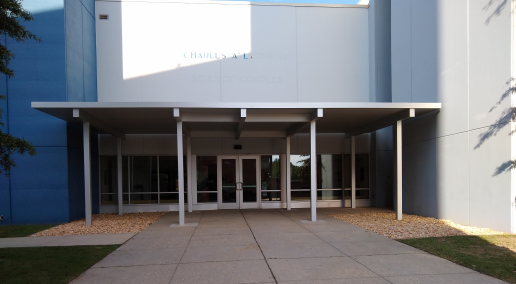
[[[366,8],[97,1],[96,13],[99,101],[369,101]]]

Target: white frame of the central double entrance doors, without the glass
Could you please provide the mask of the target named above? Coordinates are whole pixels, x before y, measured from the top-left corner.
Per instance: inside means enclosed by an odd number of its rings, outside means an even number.
[[[235,160],[235,179],[237,181],[236,202],[222,202],[222,159]],[[256,202],[243,202],[243,194],[241,190],[242,182],[242,160],[256,159]],[[228,155],[217,156],[217,201],[219,209],[257,209],[260,208],[260,192],[261,192],[261,176],[260,176],[260,156],[259,155]],[[240,185],[239,185],[240,183]]]

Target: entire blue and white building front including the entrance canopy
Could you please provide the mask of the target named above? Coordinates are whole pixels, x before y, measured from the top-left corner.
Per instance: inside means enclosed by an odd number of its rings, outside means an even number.
[[[374,206],[514,232],[511,1],[40,2],[43,43],[4,39],[5,130],[38,156],[0,224]]]

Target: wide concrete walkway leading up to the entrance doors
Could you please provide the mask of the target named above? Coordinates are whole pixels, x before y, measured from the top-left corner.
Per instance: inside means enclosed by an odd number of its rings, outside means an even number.
[[[505,283],[325,212],[171,212],[73,283]]]

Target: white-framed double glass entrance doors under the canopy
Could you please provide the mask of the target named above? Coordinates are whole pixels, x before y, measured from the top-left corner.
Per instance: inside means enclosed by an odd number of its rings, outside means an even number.
[[[219,156],[217,167],[219,208],[258,208],[260,157]]]

